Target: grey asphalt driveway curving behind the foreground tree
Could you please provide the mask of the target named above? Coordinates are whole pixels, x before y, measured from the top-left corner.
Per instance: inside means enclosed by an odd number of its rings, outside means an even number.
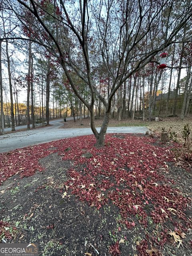
[[[91,128],[62,129],[62,121],[63,119],[54,120],[50,122],[51,126],[1,135],[0,153],[53,140],[92,134]],[[108,127],[107,133],[146,133],[147,130],[144,126]]]

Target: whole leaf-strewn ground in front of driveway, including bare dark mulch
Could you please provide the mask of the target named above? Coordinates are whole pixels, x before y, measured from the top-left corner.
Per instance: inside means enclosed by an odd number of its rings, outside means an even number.
[[[174,144],[68,138],[0,154],[1,242],[43,256],[190,256],[192,176]]]

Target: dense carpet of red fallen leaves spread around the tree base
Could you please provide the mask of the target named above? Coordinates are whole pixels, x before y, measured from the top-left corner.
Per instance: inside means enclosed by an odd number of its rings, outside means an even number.
[[[109,146],[101,149],[94,147],[94,136],[81,136],[48,142],[32,148],[13,150],[9,154],[0,154],[0,175],[4,176],[1,178],[1,182],[16,174],[16,172],[24,177],[42,171],[43,168],[39,165],[38,160],[52,152],[58,152],[63,161],[71,160],[73,162],[72,168],[67,172],[68,180],[63,184],[63,188],[70,186],[70,192],[68,193],[76,195],[81,201],[87,202],[92,207],[101,208],[108,204],[108,200],[111,200],[120,210],[122,224],[126,224],[127,228],[133,228],[133,222],[128,222],[127,217],[136,214],[139,216],[140,224],[145,226],[148,224],[146,221],[149,214],[146,211],[147,202],[153,205],[150,217],[155,224],[163,225],[166,216],[171,220],[174,211],[172,209],[176,209],[175,214],[184,224],[187,224],[188,219],[184,209],[187,208],[188,198],[178,194],[178,189],[174,190],[167,184],[165,186],[166,179],[158,172],[160,168],[166,167],[164,162],[173,161],[172,151],[166,151],[171,146],[157,148],[153,146],[155,141],[154,138],[138,137],[130,134],[124,134],[124,139],[114,138],[112,134],[107,134],[106,145]],[[66,145],[71,147],[69,152],[64,152]],[[57,150],[47,150],[50,146],[57,147]],[[82,150],[93,154],[91,163],[89,159],[80,158]],[[120,157],[117,156],[117,152]],[[134,152],[134,154],[129,154],[129,152]],[[153,152],[158,157],[154,157]],[[83,171],[81,170],[82,172],[76,169],[80,164],[86,166]],[[123,188],[119,186],[120,180]],[[155,186],[153,183],[159,186]],[[80,184],[84,184],[85,188],[78,187]],[[89,186],[90,184],[96,184],[96,186]],[[138,184],[142,185],[142,193],[139,186],[137,186]],[[60,189],[60,191],[64,193],[63,189]],[[101,197],[103,200],[99,202],[96,196],[103,191],[105,191],[105,197]],[[138,210],[133,207],[134,205],[140,206]],[[164,209],[167,215],[161,209]]]

